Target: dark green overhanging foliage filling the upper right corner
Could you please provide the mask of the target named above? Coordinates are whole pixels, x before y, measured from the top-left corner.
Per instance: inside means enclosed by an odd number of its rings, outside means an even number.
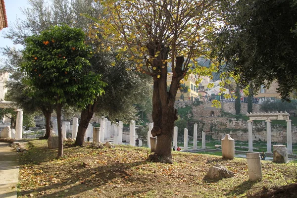
[[[283,99],[297,88],[297,3],[292,0],[238,0],[225,10],[228,25],[213,50],[227,70],[254,90],[276,80]]]

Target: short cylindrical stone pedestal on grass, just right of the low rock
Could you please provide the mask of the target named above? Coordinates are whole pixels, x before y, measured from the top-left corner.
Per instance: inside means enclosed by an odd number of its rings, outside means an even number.
[[[247,153],[247,168],[250,181],[257,181],[262,179],[261,160],[260,154],[258,152]]]

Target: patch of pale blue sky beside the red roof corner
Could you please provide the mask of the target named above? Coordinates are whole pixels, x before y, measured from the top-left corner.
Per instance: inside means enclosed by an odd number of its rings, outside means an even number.
[[[12,42],[9,39],[4,39],[3,33],[6,32],[10,27],[12,27],[13,23],[16,21],[17,18],[24,19],[24,16],[22,15],[20,8],[28,7],[29,4],[27,0],[4,0],[4,3],[7,15],[8,28],[4,28],[0,31],[0,47],[12,47]]]

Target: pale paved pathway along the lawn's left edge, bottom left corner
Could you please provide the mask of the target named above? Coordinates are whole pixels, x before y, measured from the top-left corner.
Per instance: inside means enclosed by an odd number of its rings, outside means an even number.
[[[19,164],[18,153],[9,143],[0,143],[0,198],[16,198]]]

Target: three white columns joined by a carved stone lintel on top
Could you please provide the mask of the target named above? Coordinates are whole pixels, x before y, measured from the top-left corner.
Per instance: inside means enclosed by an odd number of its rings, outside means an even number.
[[[290,114],[286,111],[281,112],[268,112],[268,113],[247,113],[249,117],[248,122],[248,151],[252,152],[252,128],[253,128],[253,120],[265,120],[266,122],[266,131],[267,131],[267,151],[271,153],[271,120],[284,120],[287,122],[287,148],[288,154],[292,154],[292,126],[291,121],[289,119]]]

